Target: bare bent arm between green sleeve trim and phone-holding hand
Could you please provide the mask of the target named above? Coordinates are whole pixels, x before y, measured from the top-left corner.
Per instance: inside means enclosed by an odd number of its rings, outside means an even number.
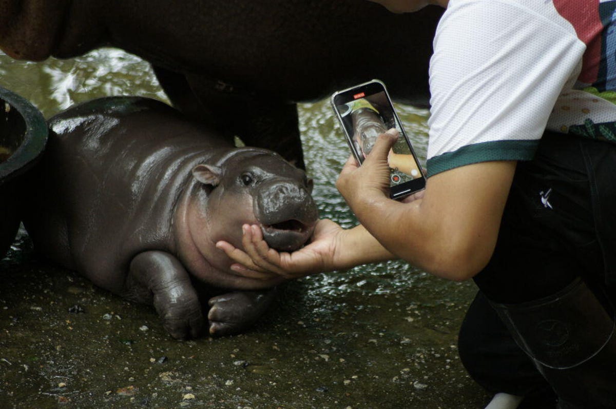
[[[464,280],[492,256],[514,162],[485,162],[428,180],[423,199],[351,199],[363,226],[389,252],[436,276]]]

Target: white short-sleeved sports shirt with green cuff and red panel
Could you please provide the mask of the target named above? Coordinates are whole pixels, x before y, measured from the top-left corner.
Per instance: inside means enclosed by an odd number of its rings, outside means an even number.
[[[616,141],[616,0],[450,0],[430,63],[428,176],[532,159],[543,132]]]

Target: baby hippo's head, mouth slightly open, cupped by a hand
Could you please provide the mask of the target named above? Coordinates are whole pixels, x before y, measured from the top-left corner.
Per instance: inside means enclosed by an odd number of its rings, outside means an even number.
[[[211,188],[208,213],[224,228],[214,232],[214,239],[241,245],[241,224],[257,223],[270,247],[291,252],[312,236],[318,218],[312,180],[278,154],[238,148],[192,173]]]

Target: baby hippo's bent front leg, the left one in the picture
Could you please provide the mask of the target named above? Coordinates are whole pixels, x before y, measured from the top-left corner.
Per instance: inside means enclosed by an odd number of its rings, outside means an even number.
[[[173,338],[196,338],[203,331],[197,291],[184,266],[170,253],[139,253],[131,261],[124,291],[129,300],[153,304]]]

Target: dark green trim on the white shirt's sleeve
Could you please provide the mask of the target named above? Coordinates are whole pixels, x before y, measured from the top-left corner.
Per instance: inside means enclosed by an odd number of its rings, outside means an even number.
[[[539,140],[489,141],[466,145],[428,159],[428,177],[456,167],[488,161],[530,161]]]

